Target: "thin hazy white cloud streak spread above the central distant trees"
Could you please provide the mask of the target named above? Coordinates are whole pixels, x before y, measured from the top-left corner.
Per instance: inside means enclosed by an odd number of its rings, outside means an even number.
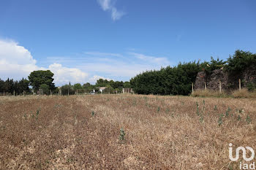
[[[161,66],[170,65],[170,61],[165,57],[141,53],[86,52],[76,57],[48,58],[48,61],[74,65],[83,72],[110,77],[115,80],[129,80],[146,70],[160,69]],[[89,80],[95,82],[93,78]]]

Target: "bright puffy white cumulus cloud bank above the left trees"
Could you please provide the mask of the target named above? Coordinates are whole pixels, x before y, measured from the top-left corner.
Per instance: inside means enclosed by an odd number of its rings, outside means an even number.
[[[18,45],[17,42],[0,39],[0,77],[7,79],[8,77],[14,80],[26,78],[35,70],[48,70],[54,74],[54,82],[56,85],[63,85],[69,81],[85,82],[88,78],[86,72],[80,69],[67,68],[59,63],[50,64],[48,68],[37,66],[37,61],[32,57],[29,50]]]

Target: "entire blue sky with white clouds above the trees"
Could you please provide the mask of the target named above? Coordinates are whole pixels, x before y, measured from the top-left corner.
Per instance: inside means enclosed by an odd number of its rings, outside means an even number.
[[[180,61],[256,53],[255,0],[1,0],[0,78],[129,81]]]

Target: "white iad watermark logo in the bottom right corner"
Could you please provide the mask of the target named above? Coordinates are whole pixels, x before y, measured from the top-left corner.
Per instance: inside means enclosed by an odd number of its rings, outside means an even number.
[[[252,149],[252,147],[238,147],[236,148],[236,157],[233,158],[233,144],[229,144],[229,157],[231,161],[238,161],[239,159],[239,152],[242,151],[243,153],[243,159],[244,161],[252,161],[255,158],[255,150]],[[249,150],[251,152],[251,156],[249,158],[246,157],[246,150]],[[248,164],[244,163],[242,164],[240,162],[240,169],[255,169],[255,162]]]

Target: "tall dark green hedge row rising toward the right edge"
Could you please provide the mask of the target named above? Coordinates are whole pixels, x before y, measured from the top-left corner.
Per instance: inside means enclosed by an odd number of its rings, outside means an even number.
[[[198,72],[211,74],[215,69],[223,69],[231,76],[240,74],[246,68],[256,66],[256,54],[236,50],[227,61],[215,60],[189,63],[178,63],[178,66],[146,71],[130,80],[135,93],[160,95],[188,95],[192,92],[192,82],[195,82]],[[252,86],[252,85],[251,85]],[[255,85],[256,87],[256,85]]]

